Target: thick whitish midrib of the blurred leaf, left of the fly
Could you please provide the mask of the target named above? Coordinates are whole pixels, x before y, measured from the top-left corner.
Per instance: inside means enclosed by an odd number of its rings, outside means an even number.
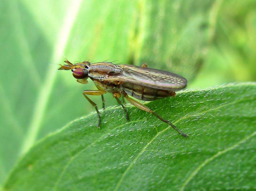
[[[28,133],[25,136],[24,144],[22,145],[21,154],[28,151],[28,149],[35,143],[38,131],[41,126],[41,122],[44,117],[44,112],[46,109],[46,104],[48,102],[49,96],[52,91],[54,80],[56,77],[56,63],[60,61],[62,57],[62,52],[64,51],[66,44],[68,42],[68,36],[73,26],[74,21],[76,20],[76,15],[79,11],[79,7],[82,0],[77,0],[71,3],[67,16],[64,19],[63,26],[60,29],[59,38],[54,48],[54,52],[51,59],[51,65],[49,65],[46,72],[46,77],[43,83],[43,86],[40,88],[38,93],[36,104],[34,108],[34,113],[32,115],[30,125],[28,128]],[[54,64],[52,64],[54,63]]]

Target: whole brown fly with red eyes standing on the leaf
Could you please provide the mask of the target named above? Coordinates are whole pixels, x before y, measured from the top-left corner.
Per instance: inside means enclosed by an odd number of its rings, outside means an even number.
[[[118,104],[120,104],[129,120],[129,115],[126,107],[123,105],[120,98],[127,99],[133,106],[154,114],[161,121],[172,126],[180,135],[187,137],[187,134],[182,133],[170,121],[162,118],[154,111],[132,99],[128,95],[144,100],[152,101],[155,99],[175,96],[175,91],[181,90],[187,86],[186,78],[177,74],[148,68],[146,63],[141,67],[126,64],[113,64],[111,62],[79,62],[71,63],[68,60],[64,61],[66,64],[61,65],[59,70],[71,70],[76,81],[82,84],[87,84],[87,79],[90,78],[96,85],[98,90],[84,90],[84,97],[95,107],[98,114],[99,121],[97,127],[100,128],[100,112],[97,105],[87,95],[101,95],[103,102],[103,109],[105,109],[105,100],[103,94],[112,93]]]

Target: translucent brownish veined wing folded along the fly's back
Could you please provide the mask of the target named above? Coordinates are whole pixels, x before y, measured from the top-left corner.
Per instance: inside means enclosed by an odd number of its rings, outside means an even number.
[[[122,74],[110,76],[106,80],[124,81],[162,90],[177,91],[187,86],[186,78],[163,70],[134,65],[118,65]]]

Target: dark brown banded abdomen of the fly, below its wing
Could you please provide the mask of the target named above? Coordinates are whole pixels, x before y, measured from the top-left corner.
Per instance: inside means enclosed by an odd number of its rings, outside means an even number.
[[[122,88],[128,95],[143,101],[162,99],[170,96],[175,96],[176,94],[174,91],[161,90],[129,82],[124,82],[122,84]]]

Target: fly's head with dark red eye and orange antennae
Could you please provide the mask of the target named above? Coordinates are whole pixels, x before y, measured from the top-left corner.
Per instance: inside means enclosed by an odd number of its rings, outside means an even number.
[[[81,62],[72,64],[68,60],[64,61],[67,64],[61,65],[59,70],[71,70],[76,81],[82,84],[87,84],[88,68],[91,65],[90,62]]]

